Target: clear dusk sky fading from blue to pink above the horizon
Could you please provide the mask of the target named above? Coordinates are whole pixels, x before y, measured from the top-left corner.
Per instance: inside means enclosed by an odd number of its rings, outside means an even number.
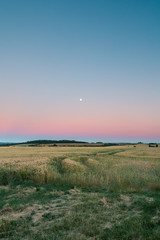
[[[159,23],[159,0],[1,0],[0,142],[160,141]]]

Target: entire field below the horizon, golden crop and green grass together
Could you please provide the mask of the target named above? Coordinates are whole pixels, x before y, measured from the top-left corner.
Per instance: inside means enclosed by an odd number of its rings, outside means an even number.
[[[0,148],[1,239],[160,239],[160,146]]]

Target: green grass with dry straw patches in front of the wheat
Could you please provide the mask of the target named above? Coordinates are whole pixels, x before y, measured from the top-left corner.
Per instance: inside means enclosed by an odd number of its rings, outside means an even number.
[[[159,239],[160,192],[0,188],[1,239]]]

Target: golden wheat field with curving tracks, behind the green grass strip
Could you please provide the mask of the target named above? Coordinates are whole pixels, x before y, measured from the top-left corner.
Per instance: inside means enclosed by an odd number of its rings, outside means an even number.
[[[160,147],[0,148],[0,184],[30,180],[109,190],[160,188]]]

